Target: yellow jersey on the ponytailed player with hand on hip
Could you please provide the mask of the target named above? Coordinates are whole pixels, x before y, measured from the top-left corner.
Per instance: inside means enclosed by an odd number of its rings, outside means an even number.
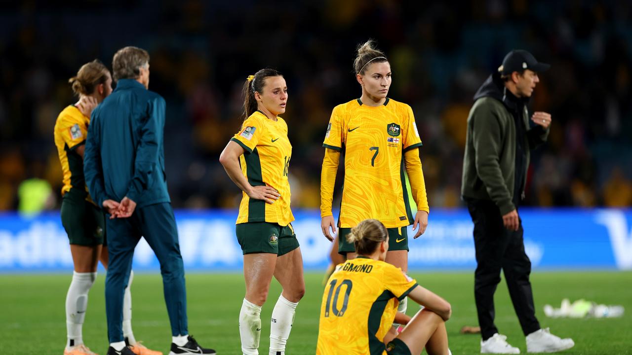
[[[241,145],[245,153],[240,157],[241,172],[252,186],[271,186],[281,197],[271,205],[264,200],[250,200],[243,193],[237,224],[246,222],[270,222],[287,226],[294,220],[289,208],[289,159],[292,145],[288,139],[288,124],[283,118],[272,121],[261,111],[256,111],[231,138]]]

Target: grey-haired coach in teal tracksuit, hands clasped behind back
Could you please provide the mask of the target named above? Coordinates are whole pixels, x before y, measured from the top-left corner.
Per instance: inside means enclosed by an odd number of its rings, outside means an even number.
[[[107,219],[108,337],[118,354],[125,346],[123,292],[134,248],[144,237],[160,262],[173,342],[181,347],[180,340],[193,338],[186,337],[185,273],[164,173],[165,101],[147,90],[149,54],[143,49],[121,49],[112,66],[118,85],[92,112],[84,162],[90,195],[116,217]],[[106,200],[120,201],[120,207],[107,208]]]

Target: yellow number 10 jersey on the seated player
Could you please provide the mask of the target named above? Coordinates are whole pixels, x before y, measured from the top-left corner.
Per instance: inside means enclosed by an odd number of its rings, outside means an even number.
[[[386,354],[397,307],[418,286],[401,268],[359,256],[337,265],[320,304],[317,355]]]

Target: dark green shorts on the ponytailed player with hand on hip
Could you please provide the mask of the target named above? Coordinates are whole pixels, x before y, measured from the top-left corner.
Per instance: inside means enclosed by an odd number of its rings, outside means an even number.
[[[240,223],[235,227],[235,233],[244,255],[271,253],[281,256],[299,246],[292,224],[281,227],[269,222]]]

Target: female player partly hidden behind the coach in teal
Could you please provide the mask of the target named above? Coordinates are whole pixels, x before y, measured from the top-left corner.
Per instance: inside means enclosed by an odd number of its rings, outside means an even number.
[[[112,76],[100,61],[84,64],[77,75],[69,80],[73,92],[79,97],[75,105],[66,107],[55,123],[54,139],[63,171],[61,195],[61,223],[70,239],[75,272],[66,294],[66,330],[68,342],[64,355],[92,355],[83,344],[82,327],[88,306],[88,291],[97,278],[97,262],[107,268],[106,222],[85,186],[83,178],[83,150],[90,123],[90,113],[112,93]],[[118,203],[106,200],[103,207],[116,216]],[[147,349],[137,343],[131,330],[130,282],[125,289],[123,330],[130,349],[135,354],[157,355],[162,352]]]

